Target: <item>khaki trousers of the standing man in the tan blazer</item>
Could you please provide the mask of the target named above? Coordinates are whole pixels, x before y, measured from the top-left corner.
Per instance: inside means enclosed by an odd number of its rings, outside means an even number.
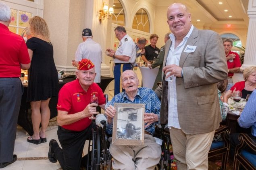
[[[188,135],[171,127],[170,137],[178,170],[208,170],[208,152],[214,132]]]

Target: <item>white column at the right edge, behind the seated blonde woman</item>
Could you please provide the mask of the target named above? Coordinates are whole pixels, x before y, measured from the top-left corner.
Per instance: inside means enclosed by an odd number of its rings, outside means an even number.
[[[247,13],[249,16],[249,26],[243,68],[256,66],[256,0],[249,0]],[[233,82],[236,83],[237,81],[244,81],[242,73],[234,74]]]

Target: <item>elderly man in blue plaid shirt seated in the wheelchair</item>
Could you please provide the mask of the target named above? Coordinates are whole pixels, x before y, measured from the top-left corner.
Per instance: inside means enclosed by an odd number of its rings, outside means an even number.
[[[155,122],[159,120],[160,100],[152,89],[138,88],[139,79],[134,71],[124,71],[121,80],[125,91],[115,95],[105,107],[106,132],[112,134],[113,117],[116,114],[114,103],[143,103],[146,112],[144,114],[144,146],[112,145],[111,143],[109,151],[113,158],[112,167],[119,170],[154,170],[161,157],[161,147],[152,136],[155,131]]]

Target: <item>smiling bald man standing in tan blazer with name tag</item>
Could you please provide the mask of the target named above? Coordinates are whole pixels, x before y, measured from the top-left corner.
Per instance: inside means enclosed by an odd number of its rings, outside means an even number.
[[[165,44],[160,122],[168,122],[178,170],[207,170],[221,122],[217,83],[227,79],[223,43],[216,32],[196,29],[183,4],[169,6],[167,19],[172,34]]]

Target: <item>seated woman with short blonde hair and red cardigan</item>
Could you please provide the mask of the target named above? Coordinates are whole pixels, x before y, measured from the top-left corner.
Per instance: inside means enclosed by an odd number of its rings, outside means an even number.
[[[230,90],[241,91],[242,98],[246,99],[247,95],[252,94],[252,91],[256,89],[256,66],[247,67],[243,76],[245,81],[235,83]]]

